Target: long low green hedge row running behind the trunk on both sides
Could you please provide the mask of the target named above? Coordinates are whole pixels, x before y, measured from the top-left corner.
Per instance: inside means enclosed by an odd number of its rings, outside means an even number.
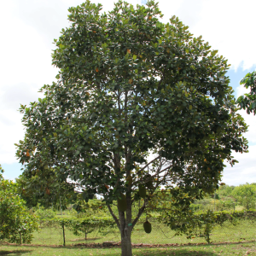
[[[205,237],[210,243],[210,235],[212,230],[217,226],[222,226],[228,222],[232,225],[239,224],[240,220],[250,219],[256,220],[256,211],[234,211],[234,212],[165,212],[159,218],[150,218],[152,222],[162,222],[176,231],[176,236],[187,235],[190,239],[192,236]],[[79,236],[87,234],[94,230],[102,232],[108,228],[116,227],[113,218],[109,217],[93,217],[93,218],[50,218],[42,219],[40,227],[59,226],[63,230],[63,238],[65,245],[65,228],[72,230],[73,234]]]

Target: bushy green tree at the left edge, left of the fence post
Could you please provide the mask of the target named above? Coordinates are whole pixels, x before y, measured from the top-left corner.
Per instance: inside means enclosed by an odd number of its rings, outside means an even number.
[[[0,165],[0,170],[3,169]],[[29,213],[25,201],[17,195],[16,184],[0,178],[0,241],[30,242],[38,230],[37,218]]]

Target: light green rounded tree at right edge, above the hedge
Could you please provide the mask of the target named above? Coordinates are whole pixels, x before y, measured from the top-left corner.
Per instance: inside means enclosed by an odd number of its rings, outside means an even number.
[[[231,195],[233,195],[236,200],[245,207],[246,210],[250,208],[255,209],[256,204],[256,186],[253,184],[243,184],[237,186],[233,189]]]

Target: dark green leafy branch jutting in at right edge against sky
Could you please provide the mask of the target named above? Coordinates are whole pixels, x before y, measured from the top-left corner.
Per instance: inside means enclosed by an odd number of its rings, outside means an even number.
[[[256,71],[253,73],[247,73],[247,75],[241,79],[240,84],[243,84],[245,88],[250,88],[250,93],[246,93],[244,96],[240,96],[237,99],[237,103],[240,108],[246,109],[247,113],[256,113]]]

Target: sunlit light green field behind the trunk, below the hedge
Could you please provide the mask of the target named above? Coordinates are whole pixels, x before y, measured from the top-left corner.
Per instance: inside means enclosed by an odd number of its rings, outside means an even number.
[[[207,243],[204,237],[193,237],[187,239],[186,236],[174,236],[175,232],[164,224],[152,222],[152,232],[147,234],[143,230],[143,223],[136,225],[131,239],[134,244],[188,244]],[[60,226],[43,228],[39,232],[34,232],[32,244],[35,245],[63,245],[63,230]],[[78,243],[102,243],[104,241],[119,242],[119,230],[117,228],[98,230],[84,236],[74,236],[71,230],[65,229],[66,245]],[[212,242],[238,242],[256,241],[256,223],[251,220],[242,220],[240,224],[233,226],[226,222],[223,226],[217,226],[210,236]]]

